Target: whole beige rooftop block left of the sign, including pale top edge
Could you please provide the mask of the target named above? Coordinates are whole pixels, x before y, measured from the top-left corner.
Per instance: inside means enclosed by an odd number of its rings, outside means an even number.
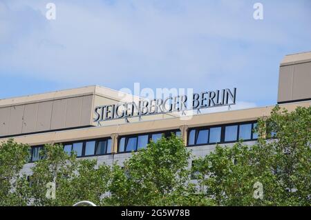
[[[127,100],[132,96],[125,97]],[[100,86],[0,99],[0,137],[95,126],[94,106],[117,103],[120,99],[124,99],[124,93]]]

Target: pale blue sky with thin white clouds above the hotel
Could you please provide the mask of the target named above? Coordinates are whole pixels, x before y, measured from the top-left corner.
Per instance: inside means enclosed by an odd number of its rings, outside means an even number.
[[[0,0],[0,99],[140,83],[236,87],[238,108],[274,105],[279,63],[307,51],[310,0]]]

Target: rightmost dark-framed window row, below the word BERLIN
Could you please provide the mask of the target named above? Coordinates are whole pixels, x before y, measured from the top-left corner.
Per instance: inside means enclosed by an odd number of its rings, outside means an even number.
[[[188,133],[188,146],[200,146],[215,143],[236,142],[239,139],[244,141],[258,138],[254,128],[256,122],[234,123],[224,126],[209,126],[205,128],[193,128]]]

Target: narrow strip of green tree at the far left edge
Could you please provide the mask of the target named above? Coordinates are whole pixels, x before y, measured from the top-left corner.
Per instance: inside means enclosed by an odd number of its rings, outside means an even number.
[[[25,206],[25,193],[19,176],[23,165],[28,162],[30,147],[16,143],[13,139],[0,146],[0,206]]]

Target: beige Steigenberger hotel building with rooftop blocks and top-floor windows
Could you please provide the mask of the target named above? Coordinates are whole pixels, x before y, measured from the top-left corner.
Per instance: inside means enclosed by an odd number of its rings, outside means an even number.
[[[113,119],[108,113],[100,114],[102,106],[133,100],[144,101],[100,86],[1,99],[0,142],[13,138],[32,147],[31,161],[23,168],[29,174],[33,162],[39,159],[39,150],[47,143],[62,143],[66,152],[74,150],[77,157],[97,158],[97,163],[122,164],[132,151],[146,147],[162,134],[169,136],[174,132],[196,157],[204,157],[216,143],[228,146],[238,139],[255,143],[256,120],[269,117],[274,107],[198,113],[187,120],[173,111]],[[311,52],[283,58],[277,102],[290,111],[297,106],[310,106]]]

